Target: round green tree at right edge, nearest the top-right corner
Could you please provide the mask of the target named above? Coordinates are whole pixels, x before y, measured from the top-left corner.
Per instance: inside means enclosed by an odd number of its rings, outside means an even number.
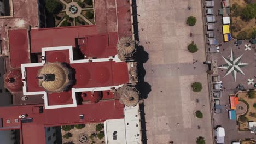
[[[242,18],[246,21],[251,20],[256,17],[256,4],[248,4],[242,10]]]

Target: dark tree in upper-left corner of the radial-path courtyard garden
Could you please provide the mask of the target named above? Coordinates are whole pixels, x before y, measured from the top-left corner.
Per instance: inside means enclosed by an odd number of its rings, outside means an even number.
[[[51,14],[58,14],[63,8],[63,5],[57,0],[46,0],[45,8]]]

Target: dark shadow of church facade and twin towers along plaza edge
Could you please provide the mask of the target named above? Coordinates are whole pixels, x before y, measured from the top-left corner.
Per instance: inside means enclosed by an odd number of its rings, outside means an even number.
[[[133,30],[135,40],[139,42],[139,29],[138,29],[138,16],[137,14],[137,3],[136,0],[132,1],[132,15],[133,15]],[[148,94],[151,91],[151,85],[144,81],[144,77],[147,72],[143,67],[143,64],[146,63],[149,59],[148,53],[144,50],[144,47],[141,45],[137,45],[137,52],[135,53],[135,61],[138,63],[138,83],[137,89],[141,92],[141,98],[147,99]],[[145,120],[145,112],[144,112],[144,104],[140,104],[140,113],[141,113],[141,134],[142,134],[142,143],[147,143],[147,129],[146,129],[146,120]]]

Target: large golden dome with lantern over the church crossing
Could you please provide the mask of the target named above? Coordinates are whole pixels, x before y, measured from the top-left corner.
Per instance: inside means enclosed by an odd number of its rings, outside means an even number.
[[[54,62],[45,63],[38,71],[38,83],[48,92],[62,92],[69,85],[70,70],[65,65]]]

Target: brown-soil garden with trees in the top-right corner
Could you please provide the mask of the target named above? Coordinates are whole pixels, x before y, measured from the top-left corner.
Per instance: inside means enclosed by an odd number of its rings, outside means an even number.
[[[230,8],[231,35],[235,39],[256,37],[256,3],[252,0],[232,0]]]

